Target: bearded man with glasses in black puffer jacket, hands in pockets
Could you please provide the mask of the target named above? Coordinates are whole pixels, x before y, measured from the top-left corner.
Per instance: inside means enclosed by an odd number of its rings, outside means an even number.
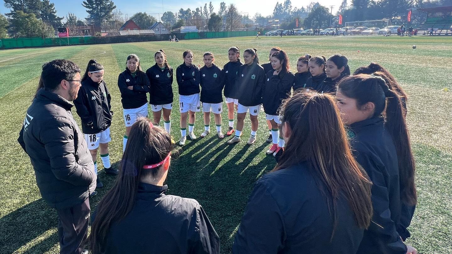
[[[71,108],[80,89],[80,68],[54,60],[27,110],[19,143],[30,156],[42,199],[58,213],[60,254],[80,254],[88,235],[89,193],[96,187],[94,164]]]

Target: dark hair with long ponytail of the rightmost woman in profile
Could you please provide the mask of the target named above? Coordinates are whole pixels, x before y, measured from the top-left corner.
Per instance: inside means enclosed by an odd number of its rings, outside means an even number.
[[[415,161],[400,95],[377,75],[358,74],[344,77],[339,81],[338,89],[348,98],[356,99],[358,108],[368,102],[374,103],[373,117],[384,113],[385,129],[390,133],[397,151],[400,198],[407,205],[415,205]]]

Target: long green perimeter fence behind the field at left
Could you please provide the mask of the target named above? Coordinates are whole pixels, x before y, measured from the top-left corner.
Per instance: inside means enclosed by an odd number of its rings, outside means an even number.
[[[68,45],[85,44],[106,44],[124,42],[152,42],[167,41],[169,36],[176,35],[179,40],[206,39],[206,38],[226,38],[240,36],[255,36],[256,31],[233,31],[233,32],[200,32],[200,33],[167,33],[167,34],[136,34],[118,36],[81,36],[68,38],[8,38],[0,39],[0,48],[21,48],[21,47],[55,47]],[[261,32],[264,34],[264,32]]]

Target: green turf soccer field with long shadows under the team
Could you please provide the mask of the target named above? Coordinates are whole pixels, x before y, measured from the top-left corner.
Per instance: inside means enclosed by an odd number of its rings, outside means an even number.
[[[139,42],[75,47],[13,49],[0,51],[0,253],[56,254],[59,252],[56,211],[42,200],[36,186],[28,155],[17,142],[25,112],[38,85],[41,66],[53,59],[71,59],[80,66],[82,75],[91,58],[104,65],[106,81],[115,112],[111,126],[109,154],[114,167],[122,156],[121,96],[117,80],[125,69],[126,58],[135,53],[144,71],[155,64],[154,53],[163,49],[175,69],[183,63],[182,52],[194,53],[194,64],[203,65],[206,51],[215,54],[222,67],[228,61],[227,50],[237,46],[240,52],[257,48],[260,63],[268,61],[268,51],[279,46],[287,51],[292,72],[296,61],[306,53],[312,56],[343,54],[353,72],[371,61],[386,67],[409,94],[407,121],[416,158],[418,206],[409,230],[408,243],[419,253],[452,252],[452,38],[451,37],[382,37],[382,36],[288,36],[218,38],[180,42]],[[416,45],[416,49],[412,46]],[[359,51],[359,52],[358,52]],[[243,59],[243,57],[242,57]],[[175,75],[175,72],[174,72]],[[174,78],[174,102],[178,102]],[[74,115],[75,108],[73,108]],[[151,114],[151,110],[150,110]],[[180,138],[179,110],[171,115],[171,134]],[[223,132],[227,129],[227,109],[222,114]],[[80,118],[76,116],[80,123]],[[163,122],[163,119],[162,121]],[[161,123],[163,127],[163,123]],[[211,121],[215,129],[215,122]],[[197,113],[195,135],[203,131],[202,113]],[[249,117],[245,120],[244,140],[228,145],[210,134],[187,141],[178,160],[172,162],[168,175],[168,193],[195,198],[204,207],[221,239],[221,253],[231,253],[235,232],[240,224],[254,182],[273,169],[273,156],[265,155],[268,128],[265,115],[259,115],[257,141],[246,145],[250,135]],[[98,158],[99,169],[102,163]],[[92,199],[91,212],[112,187],[115,178],[99,172],[104,188]],[[152,230],[152,229],[150,229]]]

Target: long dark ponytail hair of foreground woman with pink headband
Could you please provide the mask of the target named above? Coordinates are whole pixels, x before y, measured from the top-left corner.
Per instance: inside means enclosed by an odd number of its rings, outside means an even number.
[[[104,253],[103,246],[112,223],[122,220],[132,211],[141,176],[160,174],[161,166],[143,169],[143,165],[161,162],[171,149],[170,135],[161,127],[152,127],[150,119],[138,118],[132,125],[116,182],[99,202],[96,218],[91,226],[88,241],[93,254]]]

